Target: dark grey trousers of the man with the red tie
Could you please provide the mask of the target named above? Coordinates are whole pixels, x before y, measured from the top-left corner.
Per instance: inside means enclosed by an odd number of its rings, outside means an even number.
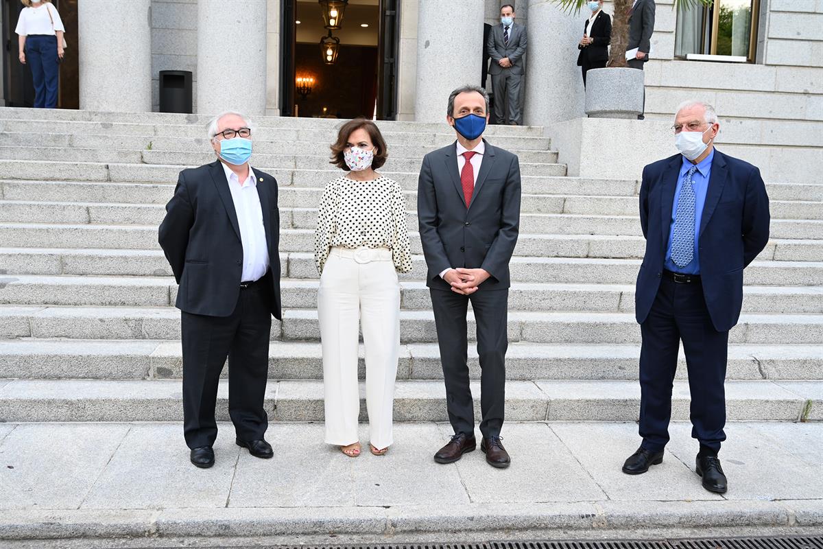
[[[509,347],[506,331],[509,290],[476,291],[461,295],[431,290],[437,342],[446,384],[446,407],[455,433],[474,433],[474,401],[469,388],[466,314],[472,302],[477,323],[477,353],[480,355],[480,407],[483,436],[500,435],[505,408],[505,355]]]

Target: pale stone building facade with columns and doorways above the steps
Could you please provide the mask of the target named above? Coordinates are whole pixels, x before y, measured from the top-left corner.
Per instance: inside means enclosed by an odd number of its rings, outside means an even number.
[[[12,6],[19,11],[19,2],[3,2],[2,26],[8,35],[14,25]],[[318,31],[309,30],[323,24],[322,2],[55,3],[77,14],[77,33],[72,36],[70,30],[67,40],[70,51],[76,46],[81,109],[159,110],[160,72],[178,70],[192,73],[192,109],[200,114],[237,109],[252,115],[348,118],[356,113],[440,121],[450,90],[481,83],[484,23],[497,24],[500,5],[514,3],[516,21],[528,27],[524,122],[549,128],[585,116],[584,87],[575,64],[585,14],[562,12],[552,0],[350,0],[337,34],[351,37],[342,40],[338,63],[342,66],[346,59],[352,64],[325,78],[326,89],[337,93],[328,100],[320,94],[322,68],[316,69],[321,77],[314,95],[300,96],[294,84],[306,56],[314,56],[322,67]],[[610,3],[605,11],[613,11]],[[369,18],[378,29],[371,35],[368,29],[353,34],[358,26],[368,27],[358,23]],[[368,63],[357,64],[367,58]],[[373,71],[374,60],[378,67]],[[3,63],[3,100],[15,105],[8,80],[16,56],[7,54]],[[357,68],[366,64],[362,71]],[[71,68],[64,65],[64,77]],[[355,72],[359,76],[352,77]],[[670,117],[686,98],[707,100],[723,119],[722,141],[732,152],[759,161],[775,177],[783,174],[782,179],[802,178],[793,165],[798,153],[807,158],[807,166],[823,169],[821,0],[715,0],[690,12],[676,12],[672,0],[660,0],[644,76],[649,119]],[[351,108],[336,105],[346,96],[360,95],[365,99]],[[368,105],[375,103],[374,113],[369,112]]]

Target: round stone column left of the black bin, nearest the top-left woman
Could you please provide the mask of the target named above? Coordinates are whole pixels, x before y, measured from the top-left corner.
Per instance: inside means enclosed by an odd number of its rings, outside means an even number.
[[[77,2],[80,108],[151,111],[151,0]]]

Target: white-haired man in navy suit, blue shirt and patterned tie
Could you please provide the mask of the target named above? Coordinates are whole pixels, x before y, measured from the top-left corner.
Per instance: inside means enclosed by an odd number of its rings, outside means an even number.
[[[728,331],[740,317],[743,269],[769,240],[769,197],[760,170],[714,149],[720,125],[710,105],[677,109],[681,154],[647,165],[640,187],[646,253],[637,277],[640,348],[639,449],[623,472],[663,461],[680,342],[691,393],[691,435],[700,441],[695,471],[706,490],[728,482],[718,451],[726,440]]]

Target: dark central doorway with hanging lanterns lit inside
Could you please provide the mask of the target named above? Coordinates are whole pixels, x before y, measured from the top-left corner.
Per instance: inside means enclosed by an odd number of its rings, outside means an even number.
[[[397,105],[397,0],[349,0],[333,64],[320,40],[328,36],[317,0],[283,2],[281,114],[313,118],[394,119]],[[310,78],[297,89],[295,81]]]

